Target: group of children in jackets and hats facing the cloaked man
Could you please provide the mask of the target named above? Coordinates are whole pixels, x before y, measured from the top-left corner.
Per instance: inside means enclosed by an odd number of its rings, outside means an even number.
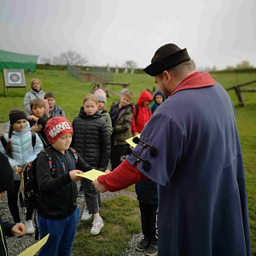
[[[14,186],[6,189],[9,211],[20,232],[24,232],[23,226],[19,226],[17,206],[20,174],[26,164],[38,155],[38,228],[41,238],[50,234],[38,255],[70,255],[79,220],[75,182],[81,180],[80,194],[84,194],[86,201],[81,219],[94,217],[90,234],[99,234],[104,225],[100,216],[100,193],[89,180],[76,174],[92,168],[105,172],[110,164],[112,170],[119,166],[125,159],[125,148],[129,147],[125,140],[143,130],[152,113],[164,101],[164,96],[160,91],[154,95],[151,112],[148,104],[152,96],[148,91],[143,91],[137,104],[132,104],[131,91],[122,90],[120,101],[113,104],[108,113],[105,108],[107,97],[99,89],[94,95],[84,97],[79,116],[73,119],[71,125],[63,109],[55,104],[54,94],[44,93],[39,79],[32,79],[31,86],[32,90],[26,93],[24,99],[27,115],[18,108],[9,112],[9,132],[4,134],[4,142],[1,140],[0,143],[0,152],[8,158],[9,168],[14,171]],[[42,150],[44,152],[38,154]],[[56,162],[53,174],[49,156],[55,158]],[[156,255],[156,185],[143,181],[136,185],[136,192],[144,235],[137,250]],[[34,232],[32,212],[32,208],[26,209],[27,234]]]

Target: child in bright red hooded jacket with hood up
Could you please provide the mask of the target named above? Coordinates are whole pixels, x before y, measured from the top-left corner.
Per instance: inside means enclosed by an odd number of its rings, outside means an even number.
[[[152,96],[147,90],[143,90],[137,100],[137,104],[133,105],[133,115],[131,120],[131,132],[134,136],[143,131],[143,127],[148,123],[152,116],[149,103],[152,101]]]

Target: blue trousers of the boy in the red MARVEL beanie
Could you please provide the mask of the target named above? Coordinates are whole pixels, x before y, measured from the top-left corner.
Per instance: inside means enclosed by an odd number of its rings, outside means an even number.
[[[49,234],[38,256],[70,256],[79,221],[79,208],[67,218],[51,220],[38,214],[40,239]]]

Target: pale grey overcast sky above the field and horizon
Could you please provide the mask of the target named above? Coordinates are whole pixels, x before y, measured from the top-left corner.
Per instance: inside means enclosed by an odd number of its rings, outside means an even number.
[[[150,63],[156,49],[187,48],[196,67],[256,67],[255,0],[0,0],[0,49],[88,64]]]

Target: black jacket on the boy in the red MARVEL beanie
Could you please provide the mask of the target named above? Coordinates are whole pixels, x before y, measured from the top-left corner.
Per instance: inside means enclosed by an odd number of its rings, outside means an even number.
[[[78,162],[69,150],[62,154],[49,146],[55,155],[56,169],[51,178],[49,157],[40,154],[37,162],[37,180],[40,190],[38,196],[38,214],[43,218],[62,219],[72,215],[77,208],[77,184],[69,176],[69,172],[80,170],[88,172],[91,167],[78,154]]]

